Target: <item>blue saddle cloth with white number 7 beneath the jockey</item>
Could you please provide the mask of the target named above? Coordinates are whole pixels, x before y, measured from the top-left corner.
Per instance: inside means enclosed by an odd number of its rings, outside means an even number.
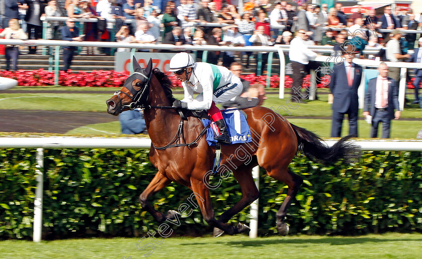
[[[225,109],[221,112],[223,119],[229,129],[231,144],[248,143],[252,141],[251,131],[249,130],[248,122],[245,115],[238,109]],[[209,125],[209,119],[201,119],[204,126]],[[209,146],[215,146],[217,141],[214,140],[215,133],[213,127],[208,127],[206,130],[206,142]]]

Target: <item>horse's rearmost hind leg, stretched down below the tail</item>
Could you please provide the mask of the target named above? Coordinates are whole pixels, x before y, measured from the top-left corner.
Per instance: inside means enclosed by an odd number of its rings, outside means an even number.
[[[287,191],[287,196],[281,204],[280,209],[277,211],[277,231],[280,235],[287,235],[288,233],[288,226],[284,223],[284,218],[287,214],[287,209],[289,208],[291,202],[293,201],[294,197],[299,190],[300,185],[303,183],[302,177],[299,175],[294,174],[290,169],[273,169],[271,171],[267,171],[267,174],[278,180],[281,181],[289,187]]]

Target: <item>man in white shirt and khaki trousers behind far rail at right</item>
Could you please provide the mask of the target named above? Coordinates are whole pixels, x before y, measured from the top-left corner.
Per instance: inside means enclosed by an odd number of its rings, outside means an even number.
[[[401,32],[397,29],[391,32],[393,37],[387,42],[385,45],[385,57],[390,62],[399,62],[400,59],[408,59],[410,58],[409,54],[401,55],[400,50],[400,43],[399,39],[401,38]],[[396,80],[396,82],[400,81],[400,68],[399,67],[389,67],[388,68],[389,76]]]

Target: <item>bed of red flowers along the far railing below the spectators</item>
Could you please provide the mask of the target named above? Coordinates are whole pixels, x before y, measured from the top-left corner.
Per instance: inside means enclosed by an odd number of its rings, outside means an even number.
[[[24,86],[46,86],[54,85],[54,72],[49,72],[44,69],[38,69],[33,71],[18,70],[18,71],[0,71],[0,76],[13,78],[18,80],[19,85]],[[72,73],[71,71],[59,72],[59,85],[62,86],[81,86],[81,87],[122,87],[128,75],[125,72],[115,72],[114,70],[94,70],[92,72],[83,72],[79,71],[77,73]],[[169,78],[172,84],[175,87],[182,87],[181,83],[177,78],[170,74]],[[251,84],[267,84],[267,76],[261,75],[257,76],[255,74],[242,75],[242,79],[249,81]],[[278,88],[279,87],[278,75],[273,75],[270,77],[270,87]],[[407,88],[413,89],[414,78],[407,83]],[[284,88],[291,88],[293,80],[290,76],[284,77]],[[422,84],[422,82],[421,82]],[[310,85],[310,76],[307,75],[303,79],[302,88],[309,87]],[[330,76],[325,75],[322,82],[318,84],[317,88],[328,88],[330,85]]]

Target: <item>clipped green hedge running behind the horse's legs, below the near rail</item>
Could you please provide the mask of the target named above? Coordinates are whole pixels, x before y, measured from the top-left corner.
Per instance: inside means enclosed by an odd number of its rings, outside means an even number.
[[[31,238],[36,151],[0,150],[0,238]],[[420,152],[365,152],[359,164],[324,167],[299,156],[290,168],[304,179],[288,211],[291,233],[362,234],[422,230]],[[141,236],[159,224],[139,194],[156,170],[143,150],[46,150],[43,238]],[[212,179],[216,183],[218,179]],[[259,228],[274,233],[287,186],[261,172]],[[160,211],[177,210],[191,191],[171,184],[154,196]],[[216,215],[240,199],[233,177],[211,191]],[[249,207],[232,219],[248,222]],[[181,218],[177,235],[208,234],[199,209]]]

